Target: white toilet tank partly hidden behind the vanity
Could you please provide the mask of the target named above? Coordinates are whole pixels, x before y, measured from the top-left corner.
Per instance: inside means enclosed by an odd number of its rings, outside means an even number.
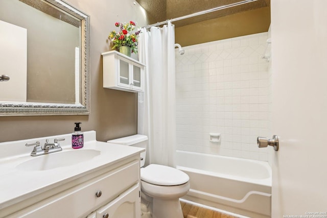
[[[123,146],[133,146],[133,147],[147,149],[148,136],[137,134],[137,135],[126,136],[123,138],[108,140],[107,142],[114,143],[114,144],[122,144]],[[141,167],[144,166],[145,158],[146,158],[146,152],[142,152]]]

